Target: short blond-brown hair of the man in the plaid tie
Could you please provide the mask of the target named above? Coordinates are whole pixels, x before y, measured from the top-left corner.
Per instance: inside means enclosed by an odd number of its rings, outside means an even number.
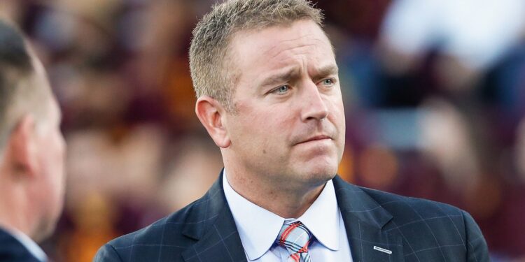
[[[323,26],[321,10],[307,0],[229,0],[213,6],[193,30],[190,71],[197,97],[211,96],[226,110],[233,104],[235,72],[228,68],[228,48],[239,31],[312,20]]]

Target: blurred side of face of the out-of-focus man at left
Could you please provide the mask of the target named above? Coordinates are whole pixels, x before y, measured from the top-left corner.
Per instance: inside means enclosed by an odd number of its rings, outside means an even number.
[[[40,61],[35,62],[36,88],[44,88],[50,91],[49,82],[45,76]],[[41,177],[40,195],[41,219],[37,226],[38,235],[45,238],[52,233],[59,215],[62,213],[64,204],[64,153],[65,143],[60,131],[60,109],[52,94],[45,96],[42,121],[37,123],[35,131],[36,141],[36,167],[38,177]]]

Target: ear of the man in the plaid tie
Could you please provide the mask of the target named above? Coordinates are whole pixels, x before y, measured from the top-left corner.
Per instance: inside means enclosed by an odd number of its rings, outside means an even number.
[[[222,148],[229,147],[231,143],[228,131],[223,126],[225,112],[223,105],[209,96],[201,96],[195,103],[195,114],[208,131],[211,139],[218,147]]]

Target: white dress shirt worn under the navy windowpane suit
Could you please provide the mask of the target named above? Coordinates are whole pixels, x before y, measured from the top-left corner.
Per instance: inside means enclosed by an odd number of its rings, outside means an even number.
[[[301,221],[314,235],[308,252],[311,261],[352,261],[350,245],[332,180],[328,181],[301,217],[283,218],[239,195],[223,173],[223,188],[248,261],[288,261],[288,251],[274,245],[285,221]]]

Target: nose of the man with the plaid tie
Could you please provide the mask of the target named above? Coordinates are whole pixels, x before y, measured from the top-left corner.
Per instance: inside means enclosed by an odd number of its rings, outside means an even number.
[[[303,90],[304,96],[302,96],[302,101],[300,102],[303,105],[302,121],[307,122],[311,119],[321,120],[328,117],[328,107],[317,85],[309,81]]]

